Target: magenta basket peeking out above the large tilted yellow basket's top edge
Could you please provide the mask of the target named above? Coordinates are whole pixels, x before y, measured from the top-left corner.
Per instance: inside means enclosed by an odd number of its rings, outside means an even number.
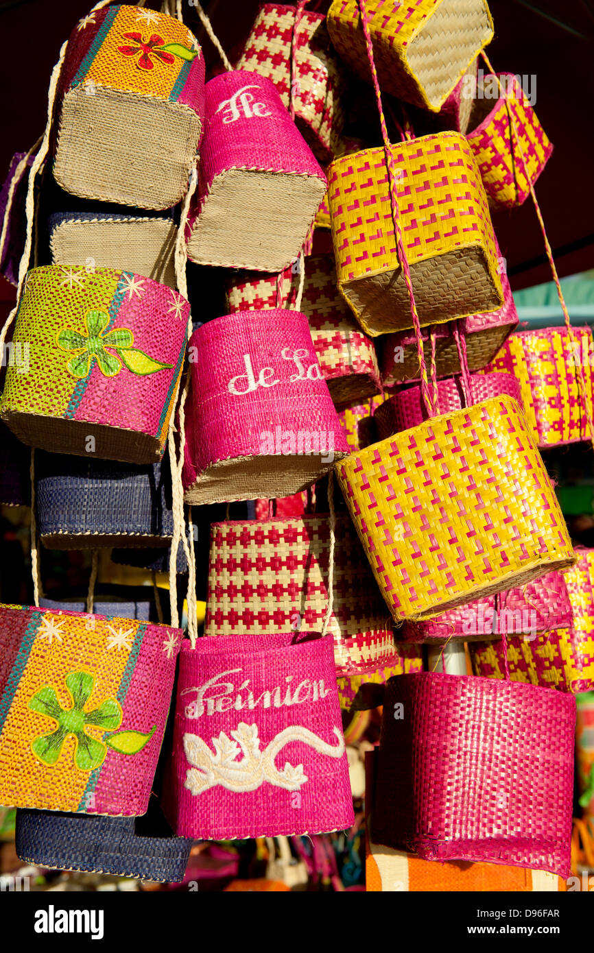
[[[503,394],[514,397],[522,405],[520,384],[511,374],[470,375],[471,402],[478,404],[487,397],[499,397]],[[438,382],[438,404],[440,414],[451,414],[465,406],[461,377],[450,377]],[[378,439],[399,434],[400,431],[416,427],[427,419],[420,385],[406,387],[379,405],[375,415]]]

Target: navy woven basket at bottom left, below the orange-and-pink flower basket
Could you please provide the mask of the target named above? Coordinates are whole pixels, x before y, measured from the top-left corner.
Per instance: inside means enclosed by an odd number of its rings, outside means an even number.
[[[164,821],[19,810],[15,847],[21,861],[40,867],[181,882],[193,841],[163,836],[161,826],[167,828]]]

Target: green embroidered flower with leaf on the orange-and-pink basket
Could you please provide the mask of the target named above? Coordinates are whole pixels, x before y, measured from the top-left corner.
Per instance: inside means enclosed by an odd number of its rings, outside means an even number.
[[[88,672],[71,672],[65,683],[72,699],[72,707],[62,708],[55,691],[50,685],[44,685],[36,692],[29,707],[57,722],[57,729],[49,735],[40,735],[31,743],[33,754],[44,764],[55,764],[60,757],[64,741],[73,736],[76,739],[74,764],[81,771],[93,771],[105,760],[108,746],[123,754],[133,755],[144,748],[153,738],[156,725],[148,734],[139,731],[113,732],[98,741],[87,734],[87,728],[118,728],[122,723],[122,708],[115,699],[103,701],[91,712],[85,711],[85,705],[92,696],[94,678]]]

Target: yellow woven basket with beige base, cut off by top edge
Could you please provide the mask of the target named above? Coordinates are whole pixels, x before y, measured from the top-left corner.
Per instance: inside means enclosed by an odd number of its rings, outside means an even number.
[[[381,90],[433,112],[493,38],[484,0],[369,0],[366,7]],[[338,54],[371,82],[358,0],[334,0],[327,19]]]

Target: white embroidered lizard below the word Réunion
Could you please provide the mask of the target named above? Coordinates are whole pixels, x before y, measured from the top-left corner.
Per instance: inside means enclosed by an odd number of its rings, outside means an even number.
[[[236,729],[231,731],[235,740],[231,740],[223,731],[218,738],[213,739],[215,753],[197,735],[187,733],[184,735],[184,751],[195,767],[188,768],[185,787],[195,795],[208,791],[216,784],[226,787],[229,791],[256,791],[264,781],[268,781],[269,784],[283,787],[287,791],[298,791],[301,784],[307,781],[303,765],[293,765],[286,761],[282,771],[279,771],[275,764],[277,755],[290,741],[302,741],[320,755],[340,758],[345,751],[344,739],[339,728],[335,727],[333,730],[338,739],[336,746],[321,740],[313,731],[302,725],[291,725],[279,732],[277,737],[260,751],[257,725],[241,721]],[[243,754],[243,758],[237,760],[240,754]]]

